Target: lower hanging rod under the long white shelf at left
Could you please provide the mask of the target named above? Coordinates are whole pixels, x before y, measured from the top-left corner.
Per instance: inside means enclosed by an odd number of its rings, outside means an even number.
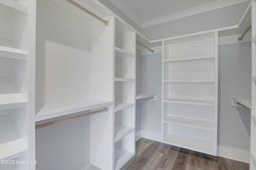
[[[78,119],[80,117],[84,117],[84,116],[88,116],[88,115],[94,115],[96,113],[100,113],[100,112],[104,112],[104,111],[108,111],[108,107],[104,107],[104,109],[91,111],[91,112],[84,112],[84,111],[78,112],[78,113],[80,113],[79,115],[75,115],[75,116],[72,116],[72,117],[67,117],[67,118],[63,118],[63,119],[60,119],[60,120],[50,121],[50,122],[47,122],[47,123],[42,123],[42,124],[36,125],[36,129],[51,126],[51,125],[55,125],[55,124],[59,124],[59,123],[63,123],[63,122],[70,121],[70,120],[73,120],[73,119]]]

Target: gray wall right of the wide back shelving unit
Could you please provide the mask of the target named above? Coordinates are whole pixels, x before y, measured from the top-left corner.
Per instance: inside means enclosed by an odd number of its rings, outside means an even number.
[[[250,150],[250,111],[231,96],[251,96],[251,43],[218,47],[218,145]]]

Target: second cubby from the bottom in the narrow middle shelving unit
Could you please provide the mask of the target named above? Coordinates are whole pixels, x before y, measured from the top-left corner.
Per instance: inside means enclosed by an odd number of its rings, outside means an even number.
[[[115,142],[134,131],[134,107],[115,112]]]

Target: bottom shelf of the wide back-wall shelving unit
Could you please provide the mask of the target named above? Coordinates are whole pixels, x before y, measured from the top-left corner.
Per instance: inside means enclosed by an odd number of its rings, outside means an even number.
[[[186,149],[192,149],[198,152],[212,154],[214,151],[213,143],[198,141],[186,137],[164,134],[164,141],[170,143],[170,145],[175,145]]]

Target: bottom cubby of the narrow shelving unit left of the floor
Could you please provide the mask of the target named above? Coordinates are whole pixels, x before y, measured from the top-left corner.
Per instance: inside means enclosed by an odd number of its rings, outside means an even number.
[[[135,143],[134,143],[134,131],[131,132],[130,134],[126,135],[119,141],[117,141],[114,145],[114,165],[115,165],[115,170],[119,170],[134,156],[135,154]]]

